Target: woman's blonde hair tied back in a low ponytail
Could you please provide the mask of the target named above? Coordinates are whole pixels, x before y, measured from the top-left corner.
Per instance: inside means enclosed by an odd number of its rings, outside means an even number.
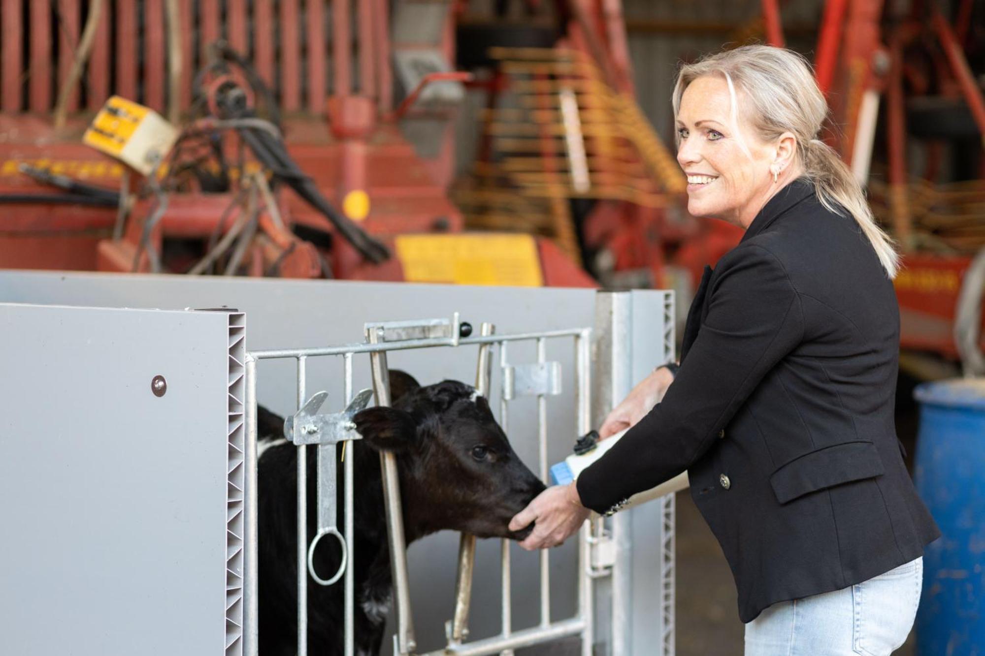
[[[876,224],[865,192],[851,169],[818,139],[827,115],[827,103],[807,60],[785,48],[744,45],[685,64],[674,87],[675,116],[688,85],[697,78],[715,74],[724,76],[728,83],[733,128],[738,127],[738,88],[748,98],[743,110],[760,138],[769,142],[784,132],[796,137],[797,158],[804,166],[804,176],[814,184],[821,204],[831,212],[842,216],[847,212],[855,219],[876,250],[886,274],[894,278],[899,269],[899,254],[892,239]],[[745,144],[740,146],[748,154]]]

